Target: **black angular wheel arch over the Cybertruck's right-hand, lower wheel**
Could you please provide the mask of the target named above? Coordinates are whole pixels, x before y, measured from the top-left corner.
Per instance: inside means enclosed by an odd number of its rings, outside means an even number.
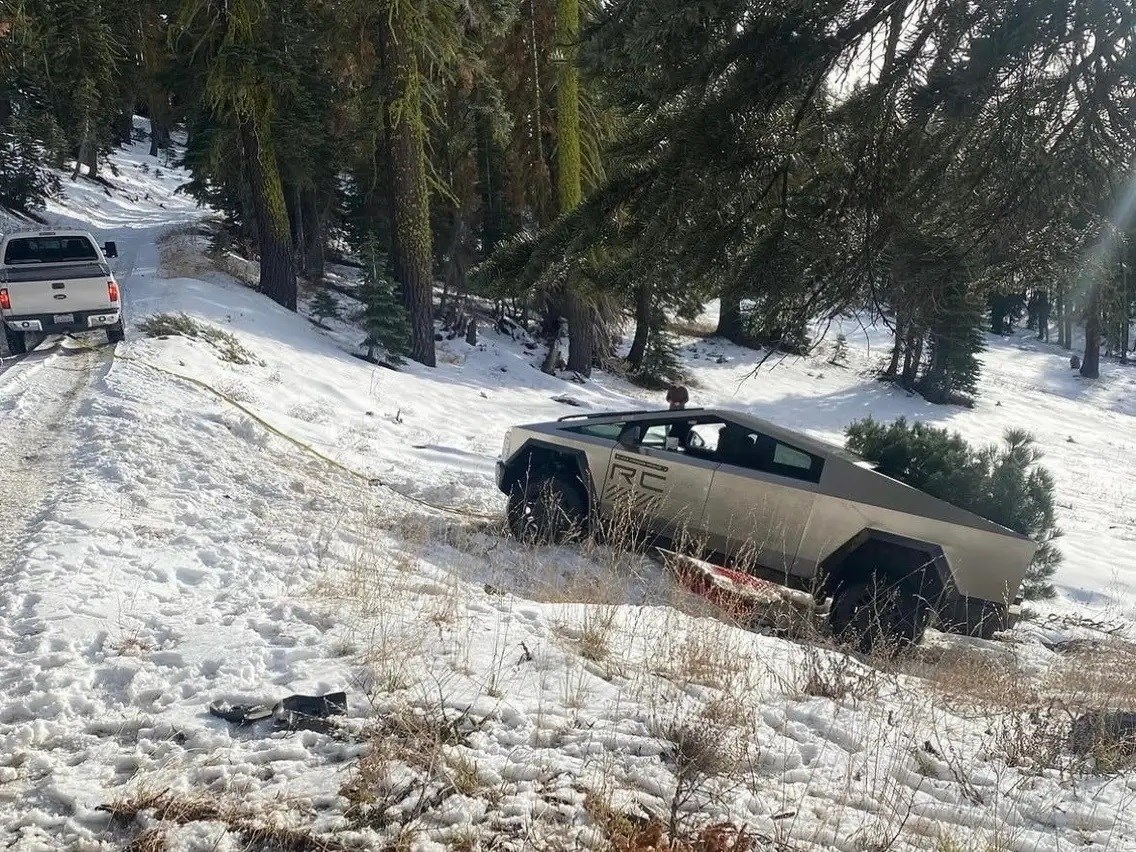
[[[935,598],[954,591],[951,566],[938,544],[866,528],[821,560],[818,594],[833,596],[842,586],[880,570],[895,579],[921,571]]]

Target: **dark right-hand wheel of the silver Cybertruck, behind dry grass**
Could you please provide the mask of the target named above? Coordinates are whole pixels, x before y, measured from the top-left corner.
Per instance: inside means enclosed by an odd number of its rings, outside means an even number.
[[[836,591],[829,625],[841,642],[863,653],[894,653],[919,644],[930,615],[913,584],[874,574]]]

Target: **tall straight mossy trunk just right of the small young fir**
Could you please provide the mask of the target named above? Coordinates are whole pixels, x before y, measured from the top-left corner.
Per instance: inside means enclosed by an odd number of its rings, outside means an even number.
[[[426,127],[421,114],[418,58],[408,20],[414,14],[406,2],[384,5],[378,14],[379,49],[389,85],[384,109],[394,206],[394,277],[402,286],[402,300],[410,315],[410,357],[434,367],[434,282],[429,192],[426,186]]]

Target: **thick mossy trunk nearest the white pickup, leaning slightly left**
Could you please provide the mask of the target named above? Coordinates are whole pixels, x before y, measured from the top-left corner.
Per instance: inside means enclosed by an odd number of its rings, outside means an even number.
[[[284,190],[276,154],[253,126],[251,118],[239,119],[245,179],[249,183],[257,244],[260,251],[260,292],[277,304],[295,310],[295,259],[289,234]]]

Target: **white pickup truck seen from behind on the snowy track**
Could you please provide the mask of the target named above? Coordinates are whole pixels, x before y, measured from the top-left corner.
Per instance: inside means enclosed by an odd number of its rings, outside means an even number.
[[[101,247],[83,231],[27,231],[0,240],[0,318],[8,351],[27,351],[28,334],[105,329],[117,343],[123,329],[122,293]]]

